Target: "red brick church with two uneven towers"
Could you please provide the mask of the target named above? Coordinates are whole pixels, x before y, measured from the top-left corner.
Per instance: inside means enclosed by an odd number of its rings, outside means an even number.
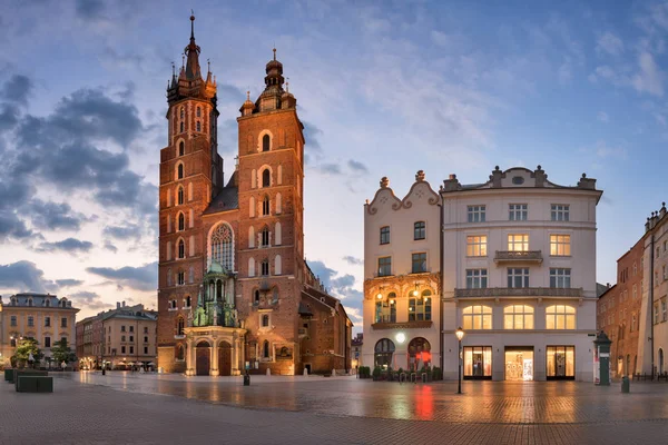
[[[160,151],[158,366],[213,376],[348,369],[352,323],[304,260],[304,126],[283,65],[274,49],[264,91],[239,109],[226,172],[216,79],[202,72],[194,21],[167,88]]]

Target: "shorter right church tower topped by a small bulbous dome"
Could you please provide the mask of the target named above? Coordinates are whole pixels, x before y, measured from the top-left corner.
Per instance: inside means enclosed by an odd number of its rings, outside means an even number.
[[[265,71],[264,91],[255,102],[248,97],[237,118],[239,310],[248,330],[246,359],[259,362],[261,370],[293,374],[301,362],[305,270],[304,126],[276,49]]]

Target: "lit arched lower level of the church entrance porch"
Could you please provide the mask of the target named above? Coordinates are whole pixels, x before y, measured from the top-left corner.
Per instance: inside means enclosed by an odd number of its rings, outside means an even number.
[[[240,375],[246,329],[199,326],[184,329],[187,343],[186,375]]]

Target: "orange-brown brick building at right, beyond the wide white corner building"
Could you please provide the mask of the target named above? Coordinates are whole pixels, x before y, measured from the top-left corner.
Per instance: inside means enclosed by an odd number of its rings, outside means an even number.
[[[597,303],[597,327],[612,340],[610,367],[622,377],[640,372],[638,337],[642,306],[642,255],[640,239],[617,260],[617,284],[606,290]]]

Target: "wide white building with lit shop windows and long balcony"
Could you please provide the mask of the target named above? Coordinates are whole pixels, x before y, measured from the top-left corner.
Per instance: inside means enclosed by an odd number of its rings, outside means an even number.
[[[596,180],[577,186],[536,170],[441,189],[444,378],[593,379]]]

